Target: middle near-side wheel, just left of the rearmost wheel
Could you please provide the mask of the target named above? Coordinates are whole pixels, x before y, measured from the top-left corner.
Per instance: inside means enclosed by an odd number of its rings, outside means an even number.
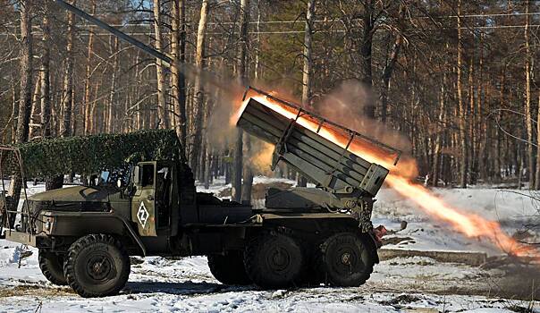
[[[262,288],[300,284],[304,263],[300,245],[283,234],[258,236],[244,253],[249,278]]]

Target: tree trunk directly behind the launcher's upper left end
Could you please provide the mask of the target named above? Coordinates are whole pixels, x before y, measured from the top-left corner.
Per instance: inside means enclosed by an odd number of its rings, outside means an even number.
[[[248,53],[248,23],[249,23],[249,0],[240,0],[240,51],[237,65],[237,74],[240,80],[246,80],[246,63]],[[232,150],[232,200],[240,202],[242,199],[251,198],[242,192],[242,154],[243,154],[243,131],[238,130]],[[249,174],[249,173],[248,173]],[[251,176],[253,174],[251,173]],[[249,176],[247,177],[249,179]],[[252,178],[251,178],[252,179]],[[248,182],[246,182],[248,183]],[[246,186],[247,187],[247,186]],[[249,197],[248,197],[249,196]]]

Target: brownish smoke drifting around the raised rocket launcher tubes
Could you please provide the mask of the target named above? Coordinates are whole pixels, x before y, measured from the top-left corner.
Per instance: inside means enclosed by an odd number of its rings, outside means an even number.
[[[198,80],[207,97],[212,98],[209,102],[212,106],[209,108],[206,129],[208,143],[213,148],[231,147],[239,130],[230,121],[232,115],[240,109],[242,97],[248,86],[226,71],[207,72],[186,63],[179,64],[179,66],[186,79],[193,82]],[[275,91],[275,89],[265,87],[264,82],[261,81],[257,81],[257,86],[269,90],[276,97],[300,103],[285,88]],[[367,89],[358,80],[347,80],[331,93],[316,101],[314,107],[316,114],[333,123],[342,124],[388,146],[408,152],[410,142],[406,137],[364,114],[366,106],[372,104],[373,101],[374,97],[370,89]],[[251,146],[248,155],[245,156],[246,162],[256,173],[270,174],[269,168],[274,147],[261,140],[251,140]],[[383,153],[387,153],[387,151]],[[405,177],[418,175],[416,162],[411,157],[401,157],[399,165],[391,170],[399,172]]]

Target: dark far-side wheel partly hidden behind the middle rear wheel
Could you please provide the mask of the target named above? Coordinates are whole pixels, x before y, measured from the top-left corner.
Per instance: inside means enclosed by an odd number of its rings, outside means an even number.
[[[246,274],[242,253],[229,251],[224,256],[211,254],[208,256],[208,267],[220,283],[247,285],[251,280]]]

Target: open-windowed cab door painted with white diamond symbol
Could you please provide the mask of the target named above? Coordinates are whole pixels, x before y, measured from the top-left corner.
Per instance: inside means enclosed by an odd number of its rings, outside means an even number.
[[[141,162],[135,167],[131,199],[131,220],[141,236],[156,236],[156,162]]]

